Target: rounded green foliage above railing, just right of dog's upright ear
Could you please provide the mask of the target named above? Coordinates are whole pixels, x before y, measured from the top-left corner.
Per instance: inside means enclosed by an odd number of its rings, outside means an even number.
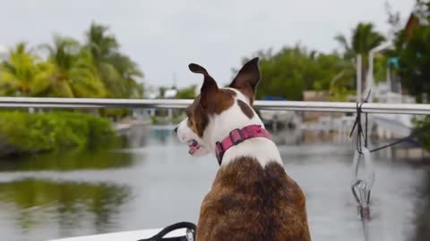
[[[341,83],[351,85],[351,71],[346,71],[348,66],[339,54],[319,54],[295,46],[285,47],[276,54],[271,50],[260,51],[258,55],[262,81],[257,98],[276,96],[301,100],[305,90],[329,90]]]

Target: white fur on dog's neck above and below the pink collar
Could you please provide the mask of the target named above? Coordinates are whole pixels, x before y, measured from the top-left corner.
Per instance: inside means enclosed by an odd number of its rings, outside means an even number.
[[[245,96],[235,90],[237,99],[248,102]],[[253,111],[254,112],[254,111]],[[264,126],[262,120],[254,112],[252,118],[247,117],[241,110],[238,104],[233,104],[228,111],[222,112],[214,116],[205,132],[205,142],[210,143],[211,153],[215,154],[215,144],[222,141],[233,129],[242,129],[248,125]],[[262,167],[269,162],[279,162],[282,165],[280,151],[271,139],[265,137],[255,137],[246,139],[244,142],[230,147],[224,154],[221,162],[221,167],[228,163],[243,157],[255,158]]]

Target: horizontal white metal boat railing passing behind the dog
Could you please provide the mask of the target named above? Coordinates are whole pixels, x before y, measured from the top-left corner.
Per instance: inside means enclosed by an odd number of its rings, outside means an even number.
[[[166,108],[181,109],[193,100],[173,99],[97,99],[97,98],[39,98],[0,97],[0,108]],[[255,101],[254,108],[273,111],[356,112],[351,102]],[[391,114],[430,114],[430,104],[365,103],[363,112]]]

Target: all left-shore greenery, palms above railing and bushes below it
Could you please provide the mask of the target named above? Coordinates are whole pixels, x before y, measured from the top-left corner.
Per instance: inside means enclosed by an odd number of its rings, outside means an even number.
[[[0,96],[142,98],[143,73],[107,26],[92,23],[82,42],[18,43],[0,53]],[[110,120],[128,110],[0,110],[0,156],[110,148],[121,144]]]

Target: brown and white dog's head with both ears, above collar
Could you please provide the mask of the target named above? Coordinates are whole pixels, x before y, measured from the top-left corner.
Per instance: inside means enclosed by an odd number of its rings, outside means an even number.
[[[252,109],[260,81],[258,58],[246,62],[229,87],[220,88],[202,66],[191,63],[190,71],[203,75],[200,95],[186,108],[187,118],[177,127],[177,137],[189,146],[189,154],[214,153],[215,143],[233,129],[262,121]]]

